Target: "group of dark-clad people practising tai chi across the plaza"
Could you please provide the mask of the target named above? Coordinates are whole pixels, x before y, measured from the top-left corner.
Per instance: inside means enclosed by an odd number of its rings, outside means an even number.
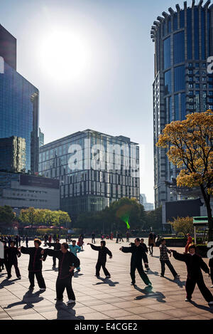
[[[151,236],[150,236],[151,237]],[[81,235],[79,240],[82,240],[83,243],[84,236]],[[152,238],[150,239],[153,240]],[[80,260],[77,258],[77,253],[81,251],[81,246],[76,244],[75,240],[72,240],[72,244],[67,244],[64,242],[60,244],[60,240],[58,238],[55,239],[53,243],[46,243],[45,246],[53,247],[53,249],[42,249],[40,247],[41,241],[39,239],[34,239],[34,247],[24,247],[24,246],[16,246],[16,241],[11,241],[10,246],[6,246],[6,241],[4,242],[4,259],[0,259],[0,269],[2,267],[6,267],[6,271],[8,273],[8,278],[11,278],[11,267],[14,266],[16,271],[16,276],[18,279],[21,279],[21,273],[18,269],[18,257],[21,254],[28,254],[30,256],[29,264],[28,264],[28,278],[30,281],[29,289],[33,289],[35,286],[35,277],[38,281],[38,286],[41,291],[45,291],[45,280],[42,274],[42,263],[45,261],[47,256],[53,257],[53,267],[56,266],[56,259],[58,259],[58,278],[56,281],[56,301],[62,301],[63,292],[65,288],[67,290],[68,296],[68,304],[75,303],[75,293],[72,290],[72,276],[74,275],[75,268],[77,272],[80,271]],[[95,276],[99,278],[100,269],[104,271],[106,278],[111,278],[111,274],[106,268],[107,263],[107,255],[109,255],[109,259],[112,259],[111,251],[106,246],[106,241],[102,240],[100,246],[94,246],[94,244],[88,243],[94,251],[98,251],[98,260],[96,264],[96,273]],[[161,265],[161,273],[160,277],[164,277],[165,275],[165,265],[168,266],[171,273],[173,274],[174,279],[178,279],[180,276],[175,271],[168,254],[172,256],[174,259],[178,261],[183,261],[187,266],[187,281],[186,281],[186,292],[187,296],[185,301],[192,300],[192,293],[195,289],[195,285],[197,283],[198,288],[202,293],[204,299],[209,303],[210,306],[213,305],[213,296],[209,291],[207,286],[204,283],[204,279],[202,276],[202,270],[205,273],[208,273],[212,278],[212,286],[213,288],[213,259],[209,261],[209,267],[202,260],[201,256],[196,254],[196,246],[190,244],[187,247],[187,251],[184,254],[180,254],[173,249],[168,249],[166,246],[165,239],[161,239],[160,241],[160,265]],[[123,253],[131,253],[131,285],[136,286],[136,269],[141,276],[142,281],[148,286],[152,288],[152,283],[148,278],[148,247],[144,244],[143,239],[136,238],[134,243],[129,244],[129,247],[121,246],[120,251]],[[151,253],[151,256],[153,254]],[[146,271],[143,270],[143,263],[145,265]],[[201,270],[202,269],[202,270]]]

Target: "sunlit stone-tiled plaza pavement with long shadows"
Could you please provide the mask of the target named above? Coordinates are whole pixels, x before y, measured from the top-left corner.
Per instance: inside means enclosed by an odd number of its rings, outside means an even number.
[[[131,239],[130,241],[133,241]],[[145,239],[147,244],[147,239]],[[128,246],[124,241],[116,244],[107,241],[107,246],[113,258],[107,256],[107,268],[111,278],[97,279],[95,264],[97,251],[93,251],[84,239],[84,251],[78,254],[81,261],[81,271],[72,278],[76,303],[67,306],[67,293],[64,301],[55,303],[55,281],[58,272],[52,269],[53,259],[48,256],[43,262],[43,276],[47,289],[41,293],[35,279],[35,289],[28,291],[28,259],[22,254],[18,259],[21,280],[16,279],[14,268],[12,277],[6,279],[6,271],[0,273],[0,320],[210,320],[213,319],[213,308],[209,308],[198,288],[195,288],[192,303],[185,302],[185,263],[170,258],[175,270],[180,274],[180,280],[173,281],[169,269],[165,268],[165,278],[160,277],[159,249],[154,248],[153,257],[148,256],[151,271],[148,277],[153,283],[153,289],[147,288],[136,273],[136,284],[130,286],[131,254],[119,251],[121,246]],[[100,240],[97,239],[96,245]],[[25,246],[25,244],[21,245]],[[29,246],[33,246],[30,241]],[[180,253],[183,248],[176,249]],[[204,259],[208,263],[208,259]],[[57,260],[58,263],[58,260]],[[204,281],[208,287],[212,285],[210,278],[204,273]],[[213,293],[213,289],[211,289]]]

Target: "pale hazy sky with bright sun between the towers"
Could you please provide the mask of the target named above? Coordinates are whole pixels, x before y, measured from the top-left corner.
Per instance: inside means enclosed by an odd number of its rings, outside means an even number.
[[[141,146],[148,202],[154,202],[150,31],[177,3],[1,0],[0,24],[17,39],[17,71],[40,90],[45,144],[86,129],[130,137]]]

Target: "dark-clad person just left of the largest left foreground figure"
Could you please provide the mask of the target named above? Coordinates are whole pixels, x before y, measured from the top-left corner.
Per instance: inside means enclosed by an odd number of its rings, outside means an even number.
[[[35,247],[19,247],[18,251],[21,251],[23,254],[29,254],[30,261],[28,264],[28,271],[29,271],[29,281],[31,285],[29,286],[29,289],[33,289],[35,286],[35,277],[38,281],[38,286],[41,291],[45,290],[45,281],[42,275],[42,261],[45,261],[46,256],[43,256],[41,254],[41,251],[43,250],[40,247],[41,241],[39,239],[34,240]]]

